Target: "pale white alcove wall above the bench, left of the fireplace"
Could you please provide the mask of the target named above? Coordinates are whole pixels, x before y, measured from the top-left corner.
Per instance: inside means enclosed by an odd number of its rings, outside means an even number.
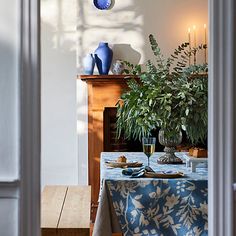
[[[77,184],[75,1],[41,3],[42,186]]]

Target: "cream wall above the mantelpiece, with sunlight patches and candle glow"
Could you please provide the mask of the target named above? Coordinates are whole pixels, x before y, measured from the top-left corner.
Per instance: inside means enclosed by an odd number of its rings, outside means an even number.
[[[120,45],[115,50],[115,58],[135,63],[125,45],[141,54],[140,63],[153,60],[149,34],[153,34],[160,44],[164,56],[169,56],[182,42],[188,40],[187,29],[196,24],[207,23],[207,1],[179,0],[130,0],[113,2],[112,8],[101,11],[91,1],[77,0],[77,66],[82,72],[82,58],[93,53],[98,43]],[[198,42],[202,41],[199,29]],[[122,48],[122,45],[124,48]],[[120,50],[120,51],[118,51]]]

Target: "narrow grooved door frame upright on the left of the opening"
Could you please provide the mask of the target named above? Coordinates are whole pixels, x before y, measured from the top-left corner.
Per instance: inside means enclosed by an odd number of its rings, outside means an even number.
[[[40,0],[21,2],[19,235],[40,236]]]

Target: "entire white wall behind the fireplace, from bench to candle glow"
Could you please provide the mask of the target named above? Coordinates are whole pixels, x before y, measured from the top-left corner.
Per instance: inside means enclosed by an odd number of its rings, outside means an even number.
[[[100,11],[90,0],[42,0],[43,184],[87,181],[87,91],[77,81],[76,95],[75,80],[84,55],[106,41],[114,59],[144,63],[152,57],[150,33],[169,55],[188,40],[193,25],[198,42],[203,41],[207,0],[114,2],[112,9]]]

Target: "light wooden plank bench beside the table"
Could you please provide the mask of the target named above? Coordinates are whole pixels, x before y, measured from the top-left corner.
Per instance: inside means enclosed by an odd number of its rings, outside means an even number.
[[[90,186],[46,186],[41,197],[42,236],[88,236]]]

